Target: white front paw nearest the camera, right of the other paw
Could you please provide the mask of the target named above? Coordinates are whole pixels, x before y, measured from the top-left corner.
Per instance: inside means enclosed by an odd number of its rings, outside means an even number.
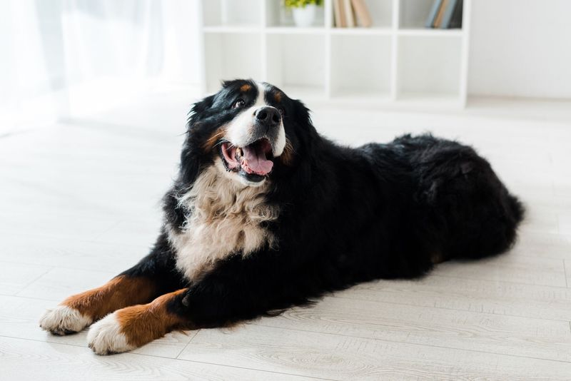
[[[127,337],[121,332],[116,312],[91,325],[87,332],[87,345],[98,355],[128,352],[136,348],[136,345],[128,343]]]

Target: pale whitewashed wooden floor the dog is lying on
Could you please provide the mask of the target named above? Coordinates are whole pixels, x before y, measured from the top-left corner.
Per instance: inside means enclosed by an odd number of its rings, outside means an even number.
[[[315,108],[318,129],[343,143],[433,131],[475,146],[527,204],[506,255],[123,355],[94,355],[86,332],[41,331],[45,308],[146,254],[189,101],[158,94],[0,135],[0,380],[571,379],[571,118],[549,103]]]

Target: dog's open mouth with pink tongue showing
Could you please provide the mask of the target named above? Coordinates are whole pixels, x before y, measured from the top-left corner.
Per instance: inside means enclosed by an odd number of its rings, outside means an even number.
[[[250,181],[262,181],[272,171],[272,146],[267,138],[244,147],[236,147],[228,142],[222,143],[220,147],[228,171],[238,172]]]

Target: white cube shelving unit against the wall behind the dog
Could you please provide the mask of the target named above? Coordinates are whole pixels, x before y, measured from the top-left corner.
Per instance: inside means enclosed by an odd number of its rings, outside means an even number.
[[[335,28],[325,0],[298,28],[281,0],[202,0],[203,91],[254,78],[311,101],[463,107],[470,2],[462,29],[425,29],[433,0],[365,0],[371,28]]]

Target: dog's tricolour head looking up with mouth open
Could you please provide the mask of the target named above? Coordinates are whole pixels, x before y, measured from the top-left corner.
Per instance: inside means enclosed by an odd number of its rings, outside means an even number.
[[[182,155],[183,176],[216,166],[243,186],[260,186],[281,166],[295,166],[315,133],[308,109],[276,86],[226,81],[218,93],[195,103]]]

